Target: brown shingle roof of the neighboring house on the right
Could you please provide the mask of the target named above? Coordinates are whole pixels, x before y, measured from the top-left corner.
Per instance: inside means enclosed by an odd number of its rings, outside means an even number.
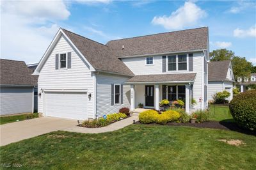
[[[230,60],[211,61],[208,64],[208,81],[226,81]]]

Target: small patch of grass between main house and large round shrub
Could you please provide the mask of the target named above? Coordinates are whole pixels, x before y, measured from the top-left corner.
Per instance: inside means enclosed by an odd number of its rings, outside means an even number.
[[[228,106],[225,105],[210,105],[210,118],[214,121],[234,121],[230,114]]]

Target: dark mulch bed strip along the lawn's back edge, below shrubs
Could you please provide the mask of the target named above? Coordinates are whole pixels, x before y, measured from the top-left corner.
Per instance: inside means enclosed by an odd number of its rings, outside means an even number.
[[[140,123],[140,121],[136,121],[135,124],[145,125],[143,123]],[[147,125],[159,125],[159,124],[150,123]],[[240,132],[243,134],[256,135],[255,131],[241,128],[235,122],[225,122],[225,121],[206,121],[204,123],[175,123],[175,122],[171,122],[171,123],[166,123],[164,125],[177,126],[177,127],[186,126],[186,127],[196,127],[196,128],[215,128],[215,129],[236,131],[236,132]],[[161,125],[159,125],[159,126],[161,126]]]

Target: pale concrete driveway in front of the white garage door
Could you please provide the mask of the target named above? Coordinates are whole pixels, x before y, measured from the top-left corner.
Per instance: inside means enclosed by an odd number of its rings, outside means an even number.
[[[46,134],[56,130],[65,130],[76,127],[76,120],[63,118],[42,117],[31,120],[18,121],[0,125],[1,143],[0,146],[15,143],[23,139]]]

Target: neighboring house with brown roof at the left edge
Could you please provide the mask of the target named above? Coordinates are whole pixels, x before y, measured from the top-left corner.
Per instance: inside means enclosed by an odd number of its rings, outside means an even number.
[[[0,66],[0,115],[34,112],[38,76],[24,61],[0,59]]]

